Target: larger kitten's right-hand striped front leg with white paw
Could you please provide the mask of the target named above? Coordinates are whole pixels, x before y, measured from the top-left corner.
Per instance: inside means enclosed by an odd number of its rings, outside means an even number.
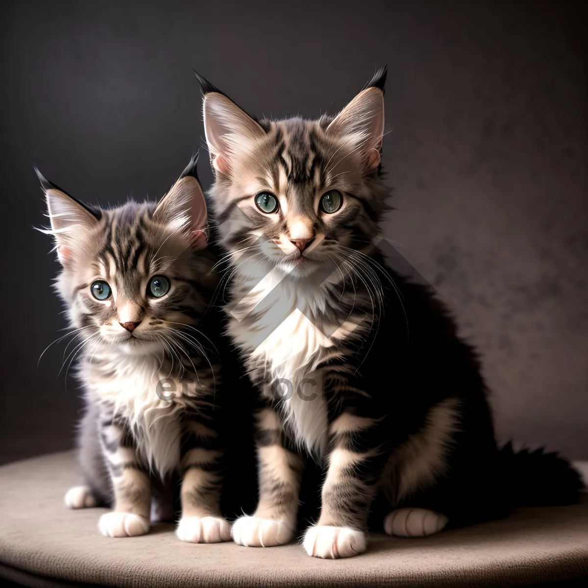
[[[358,416],[360,409],[368,410],[365,402],[355,404],[329,426],[331,450],[320,517],[303,541],[306,553],[315,557],[351,557],[367,547],[369,509],[389,450],[383,419]]]

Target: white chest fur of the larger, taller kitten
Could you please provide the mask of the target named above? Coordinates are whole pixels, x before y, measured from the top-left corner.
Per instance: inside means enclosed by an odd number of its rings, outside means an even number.
[[[266,366],[270,382],[282,384],[284,416],[296,440],[321,455],[328,419],[322,373],[316,363],[325,352],[336,355],[336,343],[355,325],[318,326],[308,316],[320,316],[328,303],[328,290],[320,286],[296,289],[291,283],[288,288],[276,288],[282,277],[272,271],[253,286],[233,310],[229,331],[253,361]],[[248,316],[253,308],[255,319]]]

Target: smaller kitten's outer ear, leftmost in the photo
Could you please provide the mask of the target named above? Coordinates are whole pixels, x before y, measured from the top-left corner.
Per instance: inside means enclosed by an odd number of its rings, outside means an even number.
[[[88,235],[101,219],[101,212],[86,206],[67,192],[49,182],[35,167],[35,172],[45,191],[47,211],[51,229],[43,230],[55,237],[55,245],[59,262],[66,265],[72,258],[76,243]]]

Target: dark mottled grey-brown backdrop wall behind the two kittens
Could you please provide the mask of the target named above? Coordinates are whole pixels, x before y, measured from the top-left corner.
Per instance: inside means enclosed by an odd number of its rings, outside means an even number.
[[[58,266],[32,166],[88,202],[161,196],[202,144],[194,67],[318,116],[388,64],[385,234],[485,359],[500,439],[588,458],[580,2],[5,2],[0,462],[71,445]],[[206,156],[201,176],[208,187]],[[69,350],[72,348],[70,347]],[[390,366],[393,369],[393,365]]]

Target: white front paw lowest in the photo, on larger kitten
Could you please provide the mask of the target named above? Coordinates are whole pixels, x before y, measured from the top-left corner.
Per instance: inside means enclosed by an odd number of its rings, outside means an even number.
[[[365,552],[368,538],[365,533],[350,527],[316,526],[306,529],[302,544],[309,555],[338,559]]]

